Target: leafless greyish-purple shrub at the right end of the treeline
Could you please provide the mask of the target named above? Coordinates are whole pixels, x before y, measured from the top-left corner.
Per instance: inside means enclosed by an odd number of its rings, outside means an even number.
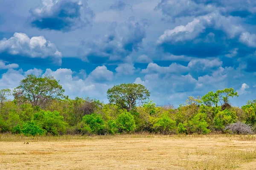
[[[235,134],[242,134],[242,135],[253,134],[252,128],[249,125],[246,125],[242,122],[236,122],[236,123],[227,125],[225,127],[225,130],[230,130],[232,133],[235,133]]]

